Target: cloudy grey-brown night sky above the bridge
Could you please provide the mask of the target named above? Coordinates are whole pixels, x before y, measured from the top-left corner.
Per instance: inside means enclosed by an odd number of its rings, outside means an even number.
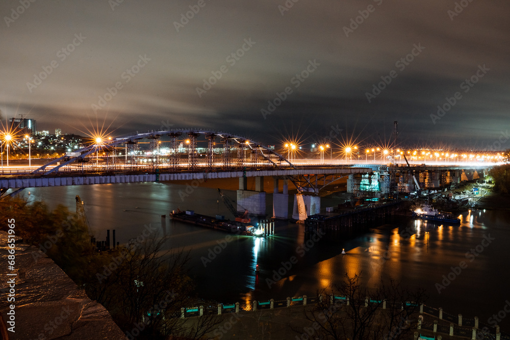
[[[510,148],[507,0],[18,0],[0,14],[4,124],[372,143],[397,120],[407,145]]]

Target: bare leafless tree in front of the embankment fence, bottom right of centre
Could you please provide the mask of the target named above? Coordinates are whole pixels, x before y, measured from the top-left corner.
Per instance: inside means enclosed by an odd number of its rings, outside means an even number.
[[[345,275],[342,284],[333,287],[321,297],[305,317],[312,322],[311,330],[319,339],[402,339],[409,336],[416,321],[413,313],[425,300],[422,289],[408,291],[396,281],[369,290],[360,284],[361,274]],[[337,299],[341,297],[341,299]],[[302,330],[296,330],[303,332]]]

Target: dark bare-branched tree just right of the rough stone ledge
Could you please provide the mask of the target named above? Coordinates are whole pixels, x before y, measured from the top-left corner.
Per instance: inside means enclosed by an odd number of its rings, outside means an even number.
[[[181,308],[196,303],[188,274],[189,252],[162,251],[166,238],[130,242],[110,255],[112,270],[94,277],[88,292],[104,304],[126,333],[138,329],[139,339],[179,336],[198,339],[219,321],[201,316],[190,326],[181,319]],[[97,267],[96,267],[97,268]]]

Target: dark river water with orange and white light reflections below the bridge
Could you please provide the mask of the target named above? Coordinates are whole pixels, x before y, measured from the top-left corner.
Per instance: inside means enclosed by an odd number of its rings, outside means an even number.
[[[345,273],[362,272],[367,286],[377,284],[381,276],[400,280],[411,288],[422,286],[430,295],[428,305],[443,307],[453,315],[478,316],[485,323],[510,300],[508,211],[473,210],[461,215],[460,226],[401,219],[352,240],[319,234],[315,241],[305,239],[303,225],[283,222],[277,225],[275,237],[260,239],[232,236],[168,218],[163,228],[161,215],[178,206],[232,219],[215,189],[188,187],[188,193],[185,189],[183,185],[163,183],[113,184],[32,188],[25,189],[23,195],[44,200],[50,207],[64,204],[72,211],[74,197],[80,195],[93,232],[101,240],[106,238],[107,229],[116,229],[117,241],[122,244],[138,237],[146,225],[156,227],[160,235],[170,237],[169,248],[191,250],[197,292],[205,299],[246,303],[253,299],[315,296],[318,289],[341,282]],[[236,197],[235,191],[223,192],[232,199]],[[266,201],[271,215],[270,194]],[[338,203],[324,198],[322,206]],[[341,254],[343,248],[346,255]],[[295,264],[291,264],[293,256]],[[465,268],[459,272],[455,267],[463,261]],[[259,274],[254,271],[257,264]],[[274,271],[279,271],[281,278]],[[437,283],[444,283],[440,293]],[[503,330],[510,330],[510,316],[499,324]]]

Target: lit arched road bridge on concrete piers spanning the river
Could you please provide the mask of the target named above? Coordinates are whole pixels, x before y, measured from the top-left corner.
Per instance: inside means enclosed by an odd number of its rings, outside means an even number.
[[[164,144],[169,144],[164,152]],[[148,142],[142,142],[146,140]],[[141,143],[150,144],[146,151]],[[99,163],[99,153],[101,162]],[[94,162],[95,156],[95,162]],[[349,163],[349,164],[346,164]],[[433,163],[433,162],[432,162]],[[319,191],[343,177],[347,191],[355,197],[388,197],[395,192],[413,192],[417,188],[441,188],[473,179],[487,164],[370,164],[318,160],[290,161],[274,147],[235,134],[201,129],[171,129],[133,134],[118,138],[97,138],[91,145],[67,153],[32,170],[21,168],[0,176],[2,195],[9,189],[116,184],[144,181],[239,178],[238,210],[250,207],[250,213],[265,215],[264,176],[271,176],[273,217],[288,218],[288,182],[297,188],[292,217],[303,220],[320,212]],[[255,177],[256,189],[247,190],[246,178]],[[283,192],[278,181],[283,180]]]

